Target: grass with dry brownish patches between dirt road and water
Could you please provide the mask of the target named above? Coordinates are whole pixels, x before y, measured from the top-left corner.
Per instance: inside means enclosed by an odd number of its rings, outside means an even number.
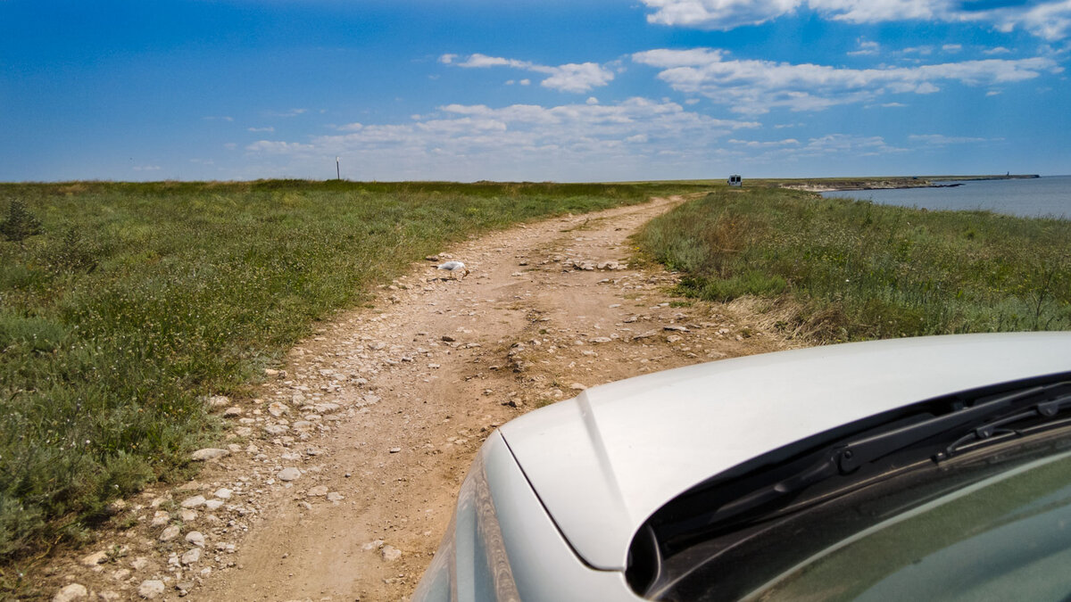
[[[1071,329],[1069,241],[1069,221],[772,187],[716,190],[637,237],[684,295],[766,300],[824,342]]]

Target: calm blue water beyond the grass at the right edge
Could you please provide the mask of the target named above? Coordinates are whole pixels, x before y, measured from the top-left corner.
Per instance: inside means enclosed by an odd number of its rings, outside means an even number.
[[[1071,176],[965,181],[962,186],[954,189],[844,191],[823,193],[823,196],[859,198],[901,207],[954,211],[986,209],[1024,217],[1071,220]]]

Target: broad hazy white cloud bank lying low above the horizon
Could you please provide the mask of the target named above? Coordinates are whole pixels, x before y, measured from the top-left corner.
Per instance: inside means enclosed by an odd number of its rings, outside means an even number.
[[[245,149],[290,171],[312,171],[325,157],[345,154],[362,166],[362,174],[351,177],[367,179],[524,179],[533,171],[555,179],[629,179],[640,169],[700,168],[724,152],[719,140],[759,126],[639,97],[549,107],[451,104],[421,117],[350,123],[336,126],[333,135],[260,140]],[[670,160],[663,151],[678,154]]]

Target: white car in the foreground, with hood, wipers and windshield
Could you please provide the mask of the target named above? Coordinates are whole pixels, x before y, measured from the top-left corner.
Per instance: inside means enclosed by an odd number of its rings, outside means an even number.
[[[752,356],[492,434],[414,601],[1066,600],[1071,332]]]

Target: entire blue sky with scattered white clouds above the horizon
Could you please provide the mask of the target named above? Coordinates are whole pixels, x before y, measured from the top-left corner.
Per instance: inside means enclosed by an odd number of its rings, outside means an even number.
[[[0,180],[1071,174],[1071,0],[0,0]]]

